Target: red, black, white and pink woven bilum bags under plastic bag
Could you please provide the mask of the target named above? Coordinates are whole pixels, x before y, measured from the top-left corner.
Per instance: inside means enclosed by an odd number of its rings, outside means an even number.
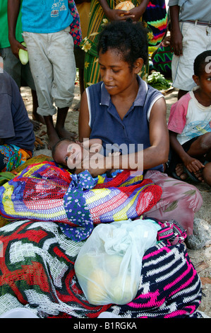
[[[164,228],[164,234],[167,235]],[[0,228],[0,315],[26,307],[37,317],[95,318],[109,311],[122,318],[201,317],[201,283],[186,247],[169,233],[143,256],[140,285],[126,305],[90,305],[74,271],[83,242],[59,223],[13,221]]]

